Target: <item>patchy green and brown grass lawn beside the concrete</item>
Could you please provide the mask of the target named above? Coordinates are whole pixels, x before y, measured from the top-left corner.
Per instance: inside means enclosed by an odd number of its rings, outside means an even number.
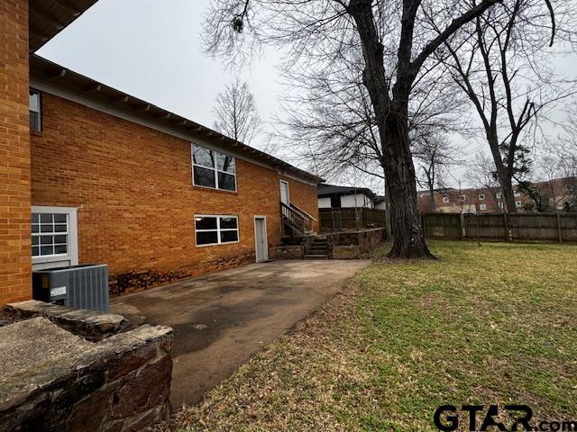
[[[437,430],[439,405],[471,402],[577,419],[577,247],[431,248],[439,261],[377,254],[169,428]]]

